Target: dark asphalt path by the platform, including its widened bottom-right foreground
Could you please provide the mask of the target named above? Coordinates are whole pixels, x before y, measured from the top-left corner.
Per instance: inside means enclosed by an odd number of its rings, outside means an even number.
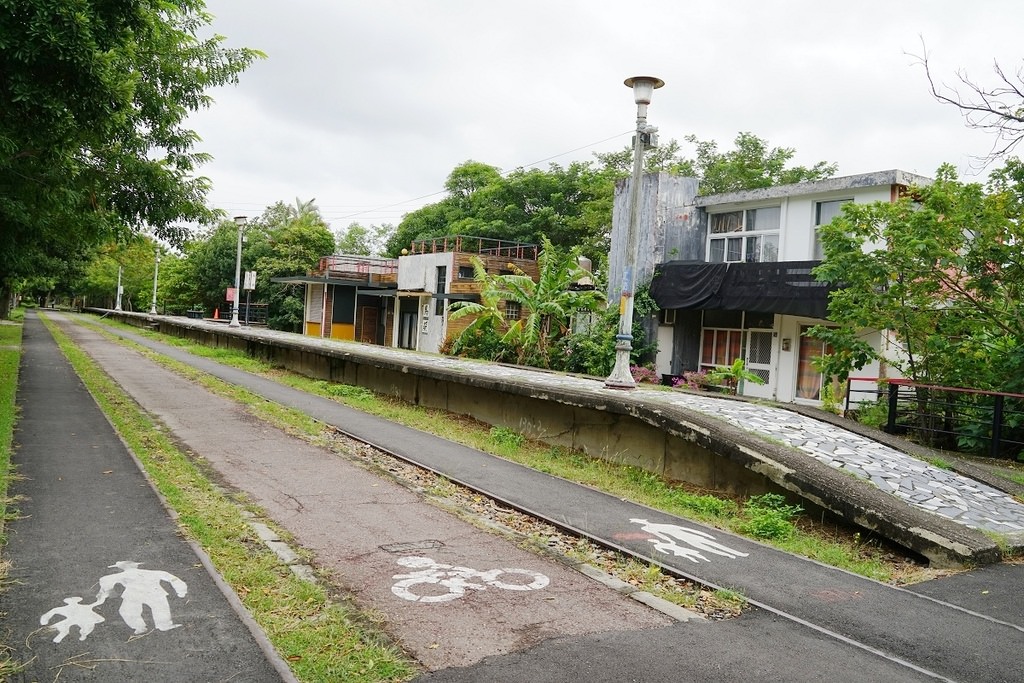
[[[485,656],[469,668],[437,671],[425,680],[1020,680],[1015,664],[1024,637],[1020,608],[1006,607],[1006,600],[977,599],[974,594],[981,591],[968,580],[936,584],[939,588],[894,589],[384,422],[138,335],[118,334],[566,528],[708,585],[738,590],[763,607],[724,624],[687,623],[574,638],[548,634],[532,647]],[[1019,578],[1013,567],[991,578],[986,574],[990,588],[981,594],[994,590],[999,597],[1013,597],[1020,586],[1013,582]],[[499,671],[504,672],[501,677],[490,678]],[[473,675],[478,678],[465,678]]]

